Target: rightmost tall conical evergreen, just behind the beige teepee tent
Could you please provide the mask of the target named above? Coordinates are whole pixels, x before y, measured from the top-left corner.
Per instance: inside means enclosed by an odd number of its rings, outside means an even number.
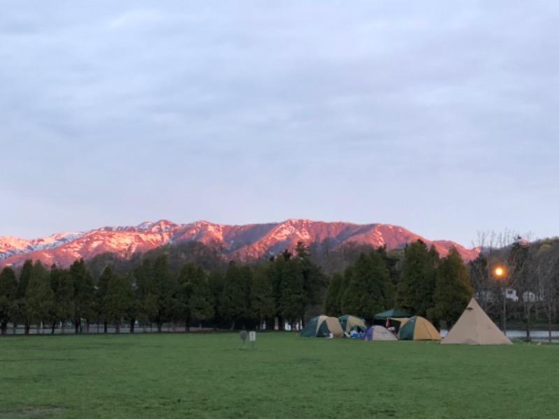
[[[435,306],[428,310],[429,320],[435,327],[438,327],[441,321],[446,321],[450,329],[467,307],[473,294],[467,267],[458,250],[451,247],[447,257],[442,258],[437,267],[437,282],[433,294]]]

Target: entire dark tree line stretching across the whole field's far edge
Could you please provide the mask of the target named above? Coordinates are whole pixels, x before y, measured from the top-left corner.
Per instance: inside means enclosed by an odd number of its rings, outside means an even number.
[[[293,253],[253,263],[224,263],[210,247],[196,243],[130,260],[110,254],[87,263],[75,260],[67,269],[27,260],[17,272],[11,267],[0,272],[0,332],[6,334],[10,323],[23,325],[25,333],[41,324],[52,332],[57,327],[87,332],[92,324],[103,325],[105,332],[112,325],[118,332],[126,323],[131,332],[146,324],[161,331],[166,323],[184,330],[275,324],[282,329],[318,314],[353,314],[372,323],[374,314],[394,307],[449,328],[474,293],[490,316],[504,321],[515,316],[530,321],[541,314],[550,324],[556,319],[557,298],[550,293],[557,295],[559,245],[553,241],[537,250],[514,244],[482,252],[467,264],[456,249],[441,258],[421,240],[405,249],[353,245],[343,252],[351,257],[331,274],[324,246],[302,242]],[[342,252],[330,254],[340,266]],[[523,304],[506,304],[504,281],[491,275],[498,261],[507,266],[507,286],[516,286]]]

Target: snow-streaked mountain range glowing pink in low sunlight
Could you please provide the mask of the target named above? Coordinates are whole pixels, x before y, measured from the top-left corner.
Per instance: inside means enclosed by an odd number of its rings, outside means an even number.
[[[479,249],[465,249],[448,240],[427,240],[399,226],[389,224],[354,224],[345,222],[310,221],[289,219],[281,223],[247,224],[227,226],[196,221],[177,224],[168,220],[145,222],[138,226],[103,227],[86,232],[57,233],[34,240],[19,237],[0,237],[0,266],[17,267],[24,260],[41,260],[68,267],[74,260],[88,260],[110,252],[129,257],[164,244],[196,241],[219,247],[230,260],[248,261],[273,256],[285,249],[294,249],[299,241],[305,244],[329,240],[331,247],[347,242],[371,244],[387,249],[404,247],[415,240],[423,240],[428,246],[435,245],[440,256],[446,256],[453,246],[463,260],[477,256]]]

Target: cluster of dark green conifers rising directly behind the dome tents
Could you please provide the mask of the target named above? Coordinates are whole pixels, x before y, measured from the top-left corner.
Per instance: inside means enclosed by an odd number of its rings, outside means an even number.
[[[438,327],[442,321],[456,322],[473,292],[456,249],[441,259],[435,247],[428,249],[418,240],[406,247],[402,260],[380,247],[361,253],[343,274],[333,274],[325,310],[331,316],[351,313],[372,323],[374,314],[399,307]]]

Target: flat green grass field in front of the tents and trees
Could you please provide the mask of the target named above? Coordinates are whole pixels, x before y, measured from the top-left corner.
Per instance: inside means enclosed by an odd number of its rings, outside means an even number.
[[[0,337],[0,418],[556,418],[559,345]]]

